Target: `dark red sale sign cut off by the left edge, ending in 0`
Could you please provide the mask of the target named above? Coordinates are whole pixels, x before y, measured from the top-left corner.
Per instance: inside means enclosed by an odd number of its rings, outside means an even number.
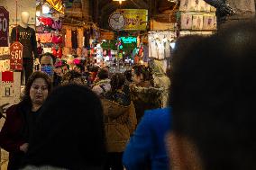
[[[0,47],[8,47],[9,12],[0,6]]]

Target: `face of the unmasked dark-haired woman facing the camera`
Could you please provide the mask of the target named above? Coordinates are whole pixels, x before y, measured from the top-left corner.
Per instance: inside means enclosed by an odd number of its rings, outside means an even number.
[[[48,96],[48,85],[43,78],[33,81],[30,89],[30,97],[33,104],[41,105]]]

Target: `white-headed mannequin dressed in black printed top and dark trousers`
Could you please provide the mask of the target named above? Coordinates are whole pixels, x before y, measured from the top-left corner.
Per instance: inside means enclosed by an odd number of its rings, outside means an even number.
[[[29,20],[30,13],[23,12],[20,24],[14,27],[11,33],[11,43],[18,40],[21,44],[23,44],[23,70],[21,79],[23,80],[23,76],[25,76],[25,82],[27,82],[29,76],[32,75],[32,53],[35,58],[38,58],[35,31],[29,27]]]

